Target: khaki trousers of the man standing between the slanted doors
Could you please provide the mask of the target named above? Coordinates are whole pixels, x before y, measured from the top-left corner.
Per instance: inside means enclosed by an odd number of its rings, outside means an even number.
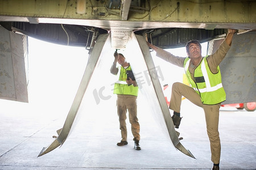
[[[117,114],[119,117],[120,130],[122,141],[127,141],[126,129],[126,112],[129,112],[129,121],[131,124],[131,133],[133,133],[133,140],[139,141],[139,122],[137,118],[137,96],[133,95],[117,95]]]

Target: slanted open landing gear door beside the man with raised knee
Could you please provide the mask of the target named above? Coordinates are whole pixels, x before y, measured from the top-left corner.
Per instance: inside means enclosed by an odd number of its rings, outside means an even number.
[[[131,39],[127,44],[127,49],[130,49],[129,56],[133,56],[132,58],[129,58],[129,61],[139,86],[139,90],[142,92],[143,96],[146,97],[155,118],[157,118],[158,122],[162,124],[164,129],[166,129],[174,146],[185,155],[195,158],[189,150],[186,150],[184,146],[181,145],[177,136],[171,114],[166,100],[164,99],[162,87],[159,82],[159,68],[156,68],[154,65],[146,41],[142,36],[135,36],[134,33],[131,33]]]

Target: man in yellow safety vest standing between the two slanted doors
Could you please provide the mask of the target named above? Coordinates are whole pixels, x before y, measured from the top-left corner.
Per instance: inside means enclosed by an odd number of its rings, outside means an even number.
[[[127,77],[127,71],[131,71],[130,63],[126,62],[125,57],[121,53],[114,53],[114,62],[110,69],[110,73],[118,75],[118,80],[114,85],[114,94],[117,94],[117,113],[121,130],[121,142],[118,146],[127,145],[127,129],[126,129],[126,112],[129,112],[129,121],[131,124],[131,132],[133,133],[134,149],[141,150],[139,146],[139,122],[137,118],[137,96],[138,86],[135,80]],[[121,67],[117,67],[117,62]],[[118,74],[119,73],[119,74]]]

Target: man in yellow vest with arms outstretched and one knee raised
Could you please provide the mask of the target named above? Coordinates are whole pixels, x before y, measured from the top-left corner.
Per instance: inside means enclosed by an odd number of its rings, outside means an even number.
[[[221,102],[226,100],[226,94],[221,83],[220,63],[226,56],[232,44],[236,29],[228,29],[226,39],[214,54],[201,56],[201,44],[197,40],[187,42],[188,57],[178,57],[160,49],[149,42],[148,46],[155,50],[156,56],[176,66],[184,67],[188,82],[187,86],[176,82],[172,85],[170,109],[174,111],[172,121],[175,128],[179,128],[181,97],[186,97],[193,104],[204,109],[207,134],[212,153],[213,170],[219,169],[221,144],[218,133],[218,120]]]

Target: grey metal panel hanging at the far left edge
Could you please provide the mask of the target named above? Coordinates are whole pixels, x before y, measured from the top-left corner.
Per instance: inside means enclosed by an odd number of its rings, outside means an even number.
[[[28,103],[27,36],[0,25],[0,99]]]

